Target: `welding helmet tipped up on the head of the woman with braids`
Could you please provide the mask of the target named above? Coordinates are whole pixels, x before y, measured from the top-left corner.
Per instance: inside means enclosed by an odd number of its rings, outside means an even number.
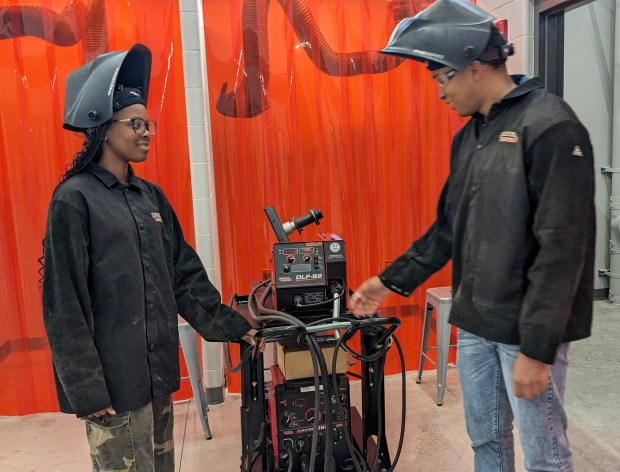
[[[120,87],[140,89],[146,103],[150,80],[151,51],[143,44],[98,56],[67,77],[63,127],[85,131],[108,121]]]

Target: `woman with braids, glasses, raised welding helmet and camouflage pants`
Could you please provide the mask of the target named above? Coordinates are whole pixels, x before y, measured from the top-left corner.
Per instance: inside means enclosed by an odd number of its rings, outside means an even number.
[[[67,80],[64,127],[84,145],[54,191],[43,316],[60,408],[85,420],[93,470],[174,470],[181,314],[209,341],[253,343],[220,302],[162,190],[131,167],[156,123],[150,51],[108,53]]]

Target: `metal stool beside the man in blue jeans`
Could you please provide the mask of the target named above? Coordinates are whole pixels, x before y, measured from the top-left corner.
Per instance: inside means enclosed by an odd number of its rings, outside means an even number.
[[[450,347],[450,332],[452,326],[448,323],[448,316],[452,308],[452,287],[429,288],[426,291],[426,310],[424,311],[424,328],[422,334],[422,347],[420,349],[420,366],[416,383],[422,382],[424,360],[428,359],[437,367],[437,406],[443,404],[443,394],[446,388],[446,374],[448,371],[448,352]],[[435,330],[437,332],[437,346],[428,347],[428,332],[430,331],[433,310],[437,311],[435,318]],[[437,362],[434,362],[426,351],[437,350]],[[452,366],[454,367],[454,366]]]

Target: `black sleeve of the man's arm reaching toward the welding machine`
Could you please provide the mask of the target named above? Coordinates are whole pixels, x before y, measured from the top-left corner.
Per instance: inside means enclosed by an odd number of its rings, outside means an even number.
[[[437,219],[433,225],[379,275],[383,284],[399,295],[411,295],[450,260],[452,231],[444,214],[448,185],[449,179],[441,192],[437,204]]]

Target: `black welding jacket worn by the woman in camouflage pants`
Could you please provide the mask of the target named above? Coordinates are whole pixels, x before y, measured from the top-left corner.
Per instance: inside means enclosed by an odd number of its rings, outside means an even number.
[[[91,164],[49,208],[43,317],[60,408],[78,417],[146,405],[179,388],[181,314],[205,339],[249,324],[220,303],[159,187]]]

